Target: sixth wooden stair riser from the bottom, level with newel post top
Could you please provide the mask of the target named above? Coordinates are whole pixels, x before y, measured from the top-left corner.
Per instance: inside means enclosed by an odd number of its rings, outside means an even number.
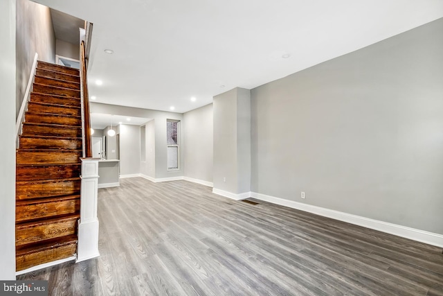
[[[81,152],[17,152],[17,164],[78,164]]]

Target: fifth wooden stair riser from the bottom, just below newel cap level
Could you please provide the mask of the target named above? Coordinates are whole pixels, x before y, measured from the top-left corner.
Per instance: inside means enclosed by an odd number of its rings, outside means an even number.
[[[17,181],[67,179],[80,176],[80,165],[17,166]]]

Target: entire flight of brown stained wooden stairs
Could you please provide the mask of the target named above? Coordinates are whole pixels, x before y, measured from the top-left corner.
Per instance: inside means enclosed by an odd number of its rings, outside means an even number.
[[[17,271],[77,252],[80,106],[79,70],[39,61],[17,149]]]

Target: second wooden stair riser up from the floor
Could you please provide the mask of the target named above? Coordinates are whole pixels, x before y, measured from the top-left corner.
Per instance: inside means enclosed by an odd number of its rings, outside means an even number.
[[[35,223],[32,226],[15,227],[15,245],[26,245],[28,243],[36,243],[51,238],[68,236],[75,234],[77,229],[77,218],[57,220],[53,223]]]

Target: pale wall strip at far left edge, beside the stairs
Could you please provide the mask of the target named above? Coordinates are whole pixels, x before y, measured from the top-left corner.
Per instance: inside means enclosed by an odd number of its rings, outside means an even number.
[[[15,280],[15,0],[0,1],[0,279]]]

